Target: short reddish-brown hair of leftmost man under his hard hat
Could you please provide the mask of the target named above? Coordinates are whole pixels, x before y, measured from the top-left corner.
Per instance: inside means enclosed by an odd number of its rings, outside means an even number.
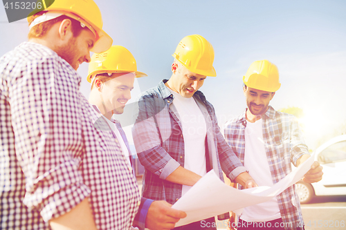
[[[39,17],[43,14],[44,14],[44,12],[39,12],[36,15],[34,15],[32,17],[32,20],[30,21],[30,23],[32,23],[34,19],[36,19],[37,17]],[[83,29],[88,29],[86,27],[82,28],[82,26],[80,26],[79,21],[72,19],[71,17],[68,17],[66,15],[61,15],[60,17],[57,17],[55,19],[51,19],[49,21],[44,21],[42,23],[37,24],[36,26],[33,26],[33,28],[31,28],[29,33],[28,33],[28,39],[43,37],[44,35],[46,35],[46,32],[48,30],[50,30],[55,23],[63,21],[64,19],[70,19],[71,20],[71,30],[73,33],[73,37],[78,37],[78,35],[80,35],[80,32],[82,32]],[[30,23],[29,23],[29,25],[30,25]]]

